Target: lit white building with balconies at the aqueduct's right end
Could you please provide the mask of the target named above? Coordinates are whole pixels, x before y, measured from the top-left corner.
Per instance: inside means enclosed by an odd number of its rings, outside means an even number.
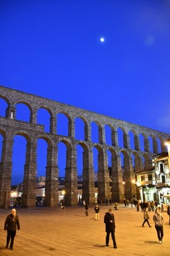
[[[152,166],[136,174],[142,201],[170,203],[170,139],[166,145],[168,152],[153,155]]]

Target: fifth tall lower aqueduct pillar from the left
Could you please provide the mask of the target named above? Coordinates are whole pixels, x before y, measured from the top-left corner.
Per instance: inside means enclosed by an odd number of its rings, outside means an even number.
[[[95,203],[93,152],[88,149],[83,152],[82,199],[89,205]]]

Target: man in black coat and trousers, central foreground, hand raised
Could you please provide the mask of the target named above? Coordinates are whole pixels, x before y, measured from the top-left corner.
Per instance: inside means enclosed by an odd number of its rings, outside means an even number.
[[[111,238],[113,240],[114,249],[117,249],[117,243],[115,241],[115,222],[114,222],[114,215],[113,209],[109,209],[109,212],[105,214],[104,222],[106,224],[106,246],[109,246],[109,237],[111,233]]]

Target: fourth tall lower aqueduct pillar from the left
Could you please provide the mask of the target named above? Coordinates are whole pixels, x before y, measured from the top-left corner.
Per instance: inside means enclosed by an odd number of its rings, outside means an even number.
[[[65,205],[77,205],[77,154],[76,149],[67,146],[67,165],[65,168]]]

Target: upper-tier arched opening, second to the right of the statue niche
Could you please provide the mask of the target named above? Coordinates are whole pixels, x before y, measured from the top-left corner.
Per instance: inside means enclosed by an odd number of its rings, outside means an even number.
[[[51,115],[49,114],[49,111],[47,109],[40,108],[38,110],[38,112],[37,112],[37,123],[39,125],[44,125],[45,133],[49,133],[50,118],[51,118]]]

